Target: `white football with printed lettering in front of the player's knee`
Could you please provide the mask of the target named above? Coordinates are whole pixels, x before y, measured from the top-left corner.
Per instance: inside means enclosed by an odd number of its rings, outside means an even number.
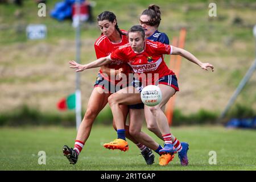
[[[156,85],[147,85],[142,89],[141,100],[144,105],[156,106],[162,101],[162,92]]]

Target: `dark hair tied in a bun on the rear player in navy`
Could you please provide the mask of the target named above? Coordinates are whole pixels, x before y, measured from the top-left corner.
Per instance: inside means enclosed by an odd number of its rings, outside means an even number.
[[[158,5],[148,6],[148,9],[144,10],[141,15],[150,16],[148,24],[150,24],[151,26],[159,27],[159,24],[161,22],[161,12]]]

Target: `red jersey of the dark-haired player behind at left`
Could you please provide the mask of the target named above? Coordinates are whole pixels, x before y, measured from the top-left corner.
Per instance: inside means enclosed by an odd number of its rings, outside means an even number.
[[[125,30],[121,30],[123,33],[127,34],[127,32]],[[105,35],[101,35],[96,42],[94,43],[94,49],[96,52],[96,57],[97,59],[101,58],[101,57],[106,57],[109,56],[110,53],[112,53],[115,49],[117,49],[119,46],[123,46],[125,44],[128,43],[128,39],[126,37],[126,35],[122,35],[122,40],[119,43],[113,43],[109,40],[109,38]],[[109,68],[112,69],[119,69],[119,68],[123,68],[124,70],[124,74],[128,75],[131,72],[131,68],[129,67],[129,65],[127,65],[126,62],[124,62],[123,60],[115,60],[112,61],[112,63],[110,63]],[[117,84],[119,82],[119,80],[110,80],[110,77],[105,77],[102,74],[102,71],[100,69],[100,73],[102,75],[102,77],[104,77],[106,80]]]

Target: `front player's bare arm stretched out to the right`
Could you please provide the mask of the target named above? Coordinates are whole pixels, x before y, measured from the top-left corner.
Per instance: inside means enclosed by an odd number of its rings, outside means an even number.
[[[190,53],[184,49],[172,46],[172,54],[180,55],[180,56],[184,57],[185,59],[191,61],[192,63],[199,65],[202,69],[205,69],[206,71],[208,71],[207,68],[210,68],[210,69],[212,69],[212,71],[214,71],[214,67],[212,64],[202,63],[194,55],[192,55],[192,53]]]

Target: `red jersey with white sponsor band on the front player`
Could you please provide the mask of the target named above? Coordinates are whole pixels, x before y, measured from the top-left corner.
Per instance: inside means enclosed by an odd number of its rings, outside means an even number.
[[[158,77],[161,78],[166,75],[175,75],[175,73],[167,67],[163,59],[163,55],[171,53],[172,46],[145,40],[142,52],[134,52],[128,43],[112,52],[110,58],[113,61],[127,61],[134,73],[138,73],[139,75],[146,73],[146,76],[148,76],[148,73],[151,73],[152,78],[154,78],[154,73],[158,73]],[[152,83],[154,84],[154,82]]]

